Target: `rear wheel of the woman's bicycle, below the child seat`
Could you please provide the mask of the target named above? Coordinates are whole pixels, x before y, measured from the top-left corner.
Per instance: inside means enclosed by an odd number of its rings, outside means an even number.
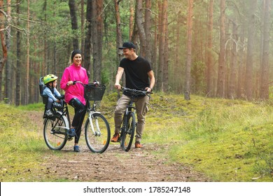
[[[59,113],[55,116],[55,120],[45,118],[43,138],[48,148],[61,150],[66,144],[66,130],[69,129],[69,123],[65,116],[61,116]]]

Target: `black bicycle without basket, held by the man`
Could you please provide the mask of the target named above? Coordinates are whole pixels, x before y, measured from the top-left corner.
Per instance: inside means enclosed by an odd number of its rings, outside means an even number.
[[[118,141],[120,142],[120,146],[123,148],[123,151],[130,151],[132,146],[132,141],[134,139],[134,132],[136,130],[136,117],[134,115],[135,107],[133,103],[135,99],[139,96],[148,96],[148,94],[152,94],[153,92],[148,92],[146,90],[134,90],[128,87],[121,87],[123,91],[129,92],[130,102],[126,107],[125,113],[123,114],[123,121],[120,127],[120,137]]]

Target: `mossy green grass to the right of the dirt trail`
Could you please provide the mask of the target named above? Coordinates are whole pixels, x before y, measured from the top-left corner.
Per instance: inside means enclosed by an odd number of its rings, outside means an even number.
[[[213,181],[273,181],[273,107],[269,102],[157,95],[146,141]]]

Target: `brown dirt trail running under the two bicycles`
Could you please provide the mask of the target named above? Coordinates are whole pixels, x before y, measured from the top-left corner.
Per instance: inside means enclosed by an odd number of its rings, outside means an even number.
[[[34,112],[31,118],[41,126],[41,113]],[[47,153],[43,158],[43,166],[46,169],[39,171],[36,177],[41,176],[44,179],[49,175],[65,181],[99,182],[209,181],[190,167],[181,163],[170,163],[165,146],[144,144],[144,148],[133,146],[129,152],[125,152],[118,144],[111,143],[106,152],[94,154],[84,141],[80,142],[80,153],[72,151],[72,141],[62,149],[62,155]],[[156,151],[160,153],[155,153]]]

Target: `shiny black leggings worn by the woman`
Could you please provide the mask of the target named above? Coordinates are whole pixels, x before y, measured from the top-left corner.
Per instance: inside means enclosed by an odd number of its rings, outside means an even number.
[[[75,143],[78,143],[80,139],[81,126],[83,125],[83,120],[85,118],[86,108],[85,105],[80,102],[77,98],[73,98],[70,100],[69,105],[74,108],[75,116],[72,120],[72,127],[75,127],[76,137]]]

